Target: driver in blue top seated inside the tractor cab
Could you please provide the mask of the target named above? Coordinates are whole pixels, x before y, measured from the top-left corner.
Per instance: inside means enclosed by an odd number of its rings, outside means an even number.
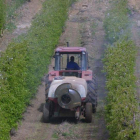
[[[74,56],[70,57],[70,62],[67,64],[67,70],[79,70],[80,67],[74,62]]]

